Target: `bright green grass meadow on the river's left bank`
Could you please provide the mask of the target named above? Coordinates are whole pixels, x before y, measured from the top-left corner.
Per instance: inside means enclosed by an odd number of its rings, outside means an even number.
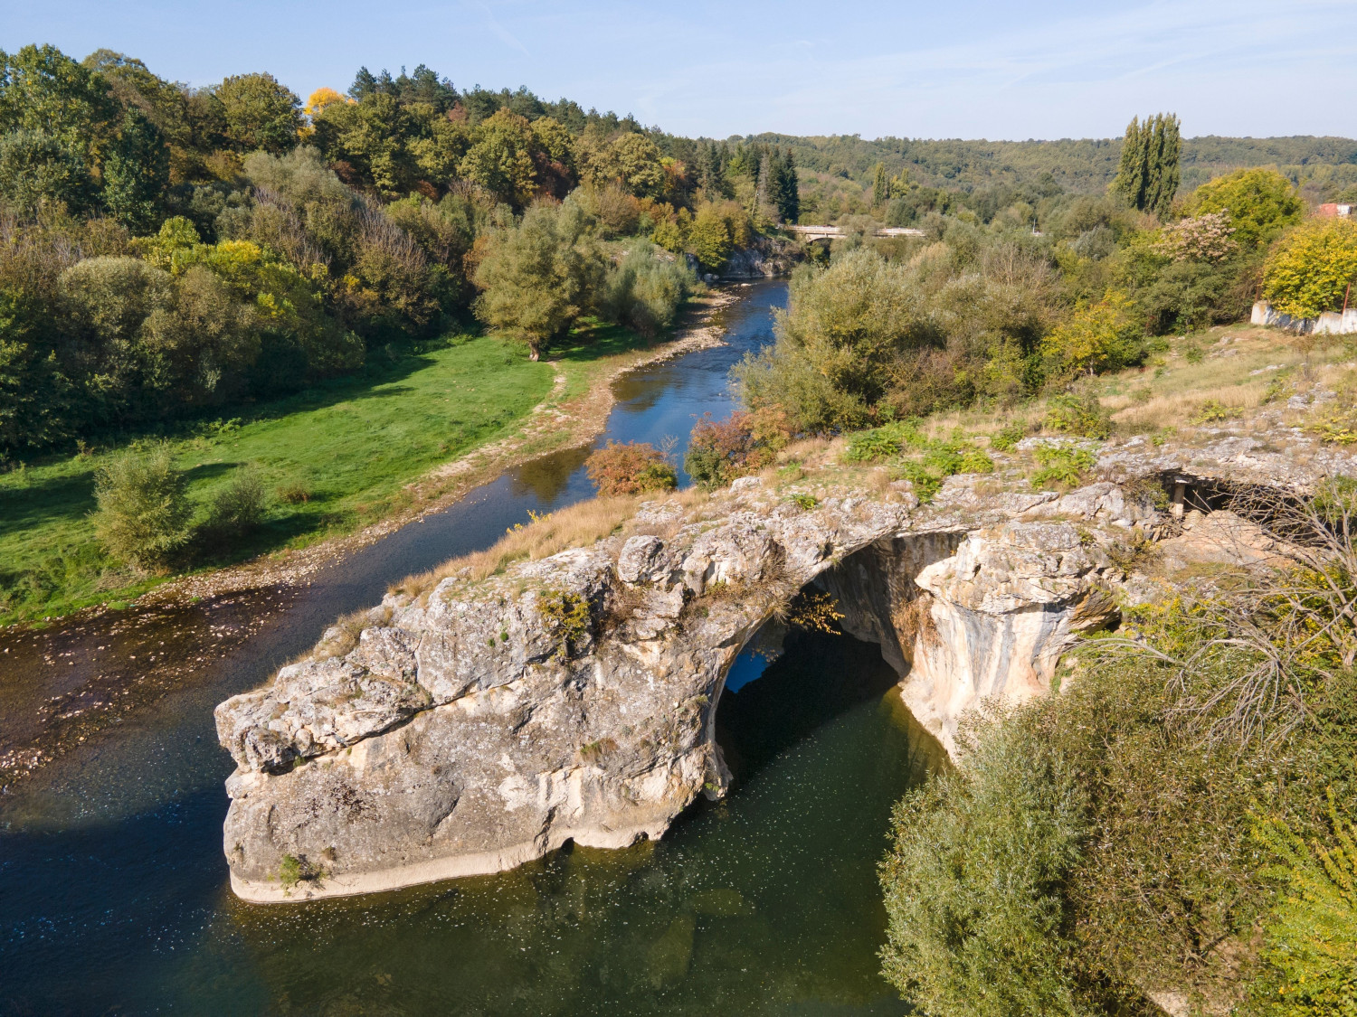
[[[567,376],[588,376],[589,361],[634,342],[628,334],[600,339],[597,348],[581,343],[562,351],[570,358],[562,365]],[[236,410],[239,420],[168,435],[199,517],[247,464],[273,492],[267,521],[247,542],[198,548],[186,568],[301,546],[373,522],[402,507],[411,480],[512,433],[551,392],[552,367],[529,362],[498,338],[453,336],[433,346],[360,377]],[[107,454],[52,458],[0,476],[0,624],[129,599],[163,582],[136,576],[95,541],[95,472]]]

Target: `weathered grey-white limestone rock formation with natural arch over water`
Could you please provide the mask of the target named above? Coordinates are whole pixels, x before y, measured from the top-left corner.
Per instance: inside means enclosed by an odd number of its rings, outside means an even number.
[[[1145,483],[1060,496],[1016,472],[953,477],[930,506],[871,471],[783,488],[750,477],[646,503],[588,548],[388,595],[356,632],[332,629],[217,708],[237,765],[232,887],[251,900],[366,892],[509,868],[567,839],[660,837],[696,795],[726,789],[726,671],[811,583],[881,644],[951,750],[966,709],[1049,692],[1071,637],[1115,620],[1132,534],[1181,540],[1183,502],[1196,491],[1209,509],[1227,471],[1281,476],[1272,453],[1244,453],[1105,452],[1107,476],[1164,483],[1167,509]]]

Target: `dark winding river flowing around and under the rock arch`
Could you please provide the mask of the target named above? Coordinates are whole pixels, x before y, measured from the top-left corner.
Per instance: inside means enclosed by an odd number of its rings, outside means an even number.
[[[727,372],[769,342],[771,308],[786,301],[782,282],[746,292],[725,312],[726,346],[617,382],[598,443],[672,435],[681,456],[693,418],[731,410]],[[262,907],[232,896],[221,854],[231,759],[213,705],[388,583],[487,546],[529,510],[590,496],[586,454],[510,471],[280,594],[267,614],[239,601],[161,610],[129,622],[118,647],[107,632],[77,632],[66,673],[50,654],[39,669],[38,651],[24,658],[16,643],[0,724],[61,694],[76,659],[126,656],[128,640],[155,654],[166,636],[171,647],[194,639],[202,663],[0,801],[0,1014],[905,1013],[877,974],[875,862],[892,803],[938,749],[875,650],[847,637],[795,637],[767,666],[740,660],[731,685],[742,687],[718,712],[740,781],[660,842],[365,898]],[[251,637],[213,655],[214,625],[250,625]]]

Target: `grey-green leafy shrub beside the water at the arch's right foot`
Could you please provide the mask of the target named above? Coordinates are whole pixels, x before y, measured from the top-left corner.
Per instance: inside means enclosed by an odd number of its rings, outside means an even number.
[[[961,769],[896,805],[882,961],[902,997],[938,1017],[1092,1012],[1064,890],[1086,808],[1057,755],[995,721]]]

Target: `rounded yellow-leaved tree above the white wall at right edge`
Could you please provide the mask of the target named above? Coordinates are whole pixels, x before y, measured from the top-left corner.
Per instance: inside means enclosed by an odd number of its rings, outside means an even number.
[[[1284,236],[1263,266],[1263,296],[1284,315],[1318,317],[1343,305],[1357,277],[1357,222],[1312,218]]]

